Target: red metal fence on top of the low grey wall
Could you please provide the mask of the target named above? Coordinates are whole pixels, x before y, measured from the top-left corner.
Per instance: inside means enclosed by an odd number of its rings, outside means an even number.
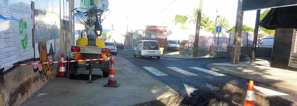
[[[252,46],[254,35],[246,32],[242,33],[241,46]],[[194,46],[195,36],[189,36],[189,40],[183,40],[181,48],[187,50]],[[273,47],[274,35],[258,34],[257,47]],[[199,36],[198,48],[211,51],[227,51],[230,45],[234,45],[234,33],[229,37]]]

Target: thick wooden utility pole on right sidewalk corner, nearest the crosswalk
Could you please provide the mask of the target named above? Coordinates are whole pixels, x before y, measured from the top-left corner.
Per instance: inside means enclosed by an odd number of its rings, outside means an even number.
[[[243,20],[243,12],[241,11],[242,0],[238,0],[237,5],[237,15],[236,15],[236,23],[235,23],[235,47],[233,46],[231,61],[232,64],[239,64],[239,56],[240,56],[240,46],[242,39],[242,20]]]

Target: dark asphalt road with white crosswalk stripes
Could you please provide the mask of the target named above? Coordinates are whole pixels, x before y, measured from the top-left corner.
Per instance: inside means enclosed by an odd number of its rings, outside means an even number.
[[[231,58],[202,58],[202,59],[175,59],[175,58],[149,58],[145,57],[139,59],[133,57],[133,51],[118,50],[117,56],[127,58],[133,64],[141,67],[147,74],[153,78],[161,81],[162,83],[170,86],[175,91],[179,92],[181,96],[186,97],[183,103],[189,105],[205,105],[213,101],[215,104],[233,105],[231,102],[239,101],[242,104],[245,98],[238,97],[238,95],[228,94],[221,92],[221,89],[228,83],[247,89],[249,80],[242,79],[236,76],[231,76],[223,73],[206,73],[196,69],[206,69],[206,64],[231,62]],[[240,61],[250,61],[249,58],[241,58]],[[194,67],[194,68],[190,68]],[[197,67],[197,68],[196,68]],[[201,70],[201,69],[200,69]],[[223,76],[225,75],[225,76]],[[291,92],[277,89],[262,83],[254,82],[254,85],[271,89],[277,92],[292,94]],[[192,94],[190,94],[192,92]],[[261,93],[258,90],[255,92]],[[189,96],[192,96],[189,98]],[[200,99],[197,99],[200,98]],[[203,98],[203,99],[201,99]],[[213,100],[213,98],[219,98]],[[289,95],[285,98],[296,98],[295,95]],[[290,102],[290,101],[287,101]],[[285,104],[289,104],[286,103]],[[284,105],[284,104],[279,104]]]

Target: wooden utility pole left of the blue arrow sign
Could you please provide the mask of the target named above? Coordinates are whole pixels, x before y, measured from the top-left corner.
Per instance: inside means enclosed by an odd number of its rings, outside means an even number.
[[[201,11],[202,11],[202,1],[203,0],[199,0],[199,9],[197,12],[193,57],[198,57],[198,43],[199,43],[199,32],[200,32],[200,24],[201,24],[200,21],[201,21]]]

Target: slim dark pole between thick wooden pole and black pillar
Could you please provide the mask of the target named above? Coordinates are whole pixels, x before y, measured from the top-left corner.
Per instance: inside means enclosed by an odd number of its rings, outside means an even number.
[[[254,30],[253,49],[252,49],[252,59],[251,59],[252,61],[251,62],[255,62],[256,45],[257,45],[258,30],[259,30],[259,21],[260,21],[260,12],[261,12],[261,10],[257,10],[256,22],[255,22],[255,30]]]

